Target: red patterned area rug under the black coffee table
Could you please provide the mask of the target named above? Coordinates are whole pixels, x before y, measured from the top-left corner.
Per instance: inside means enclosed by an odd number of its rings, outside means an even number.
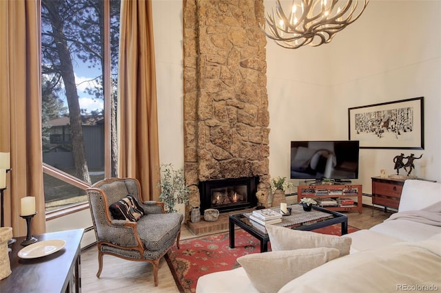
[[[348,232],[357,228],[348,227]],[[341,235],[341,224],[314,230],[322,234]],[[196,282],[200,276],[212,272],[232,270],[240,265],[238,257],[245,254],[260,252],[260,242],[244,230],[234,233],[235,248],[229,248],[228,232],[207,235],[180,241],[180,249],[176,246],[165,254],[167,264],[172,271],[179,292],[195,292]],[[271,249],[271,243],[268,245]]]

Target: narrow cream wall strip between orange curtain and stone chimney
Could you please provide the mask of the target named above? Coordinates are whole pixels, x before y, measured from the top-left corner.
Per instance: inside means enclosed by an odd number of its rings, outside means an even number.
[[[183,168],[183,3],[154,0],[159,159]]]

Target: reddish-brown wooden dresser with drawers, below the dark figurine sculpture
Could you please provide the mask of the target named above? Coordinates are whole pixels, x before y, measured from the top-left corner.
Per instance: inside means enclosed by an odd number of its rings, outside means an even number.
[[[398,209],[404,181],[406,180],[372,177],[372,208],[376,204],[384,206],[384,212],[387,208]]]

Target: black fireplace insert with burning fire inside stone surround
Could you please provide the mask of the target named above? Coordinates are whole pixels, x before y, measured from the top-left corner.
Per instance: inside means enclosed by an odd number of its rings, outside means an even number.
[[[257,205],[258,177],[244,177],[201,182],[201,213],[216,208],[220,213],[243,210]]]

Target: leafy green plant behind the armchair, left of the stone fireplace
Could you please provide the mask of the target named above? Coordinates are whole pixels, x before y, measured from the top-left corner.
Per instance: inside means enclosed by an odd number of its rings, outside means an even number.
[[[188,204],[189,188],[185,185],[183,169],[174,170],[172,164],[161,164],[161,187],[159,199],[168,213],[176,213],[178,204]],[[185,208],[183,209],[185,213]]]

